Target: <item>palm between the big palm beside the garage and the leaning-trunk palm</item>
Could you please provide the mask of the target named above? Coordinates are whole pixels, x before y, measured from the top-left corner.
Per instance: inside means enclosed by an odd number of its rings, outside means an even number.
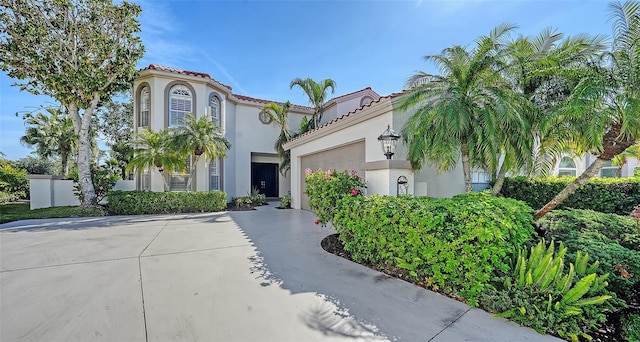
[[[563,127],[545,126],[548,108],[568,96],[569,84],[574,82],[574,70],[582,68],[605,48],[604,37],[578,35],[563,39],[563,34],[550,28],[535,37],[519,37],[506,48],[505,77],[511,80],[519,96],[520,113],[526,129],[506,127],[510,133],[500,145],[499,164],[493,193],[497,195],[508,171],[524,171],[529,176],[547,174],[553,169],[561,153],[570,150]],[[506,133],[506,131],[505,131]],[[490,169],[493,169],[490,168]]]

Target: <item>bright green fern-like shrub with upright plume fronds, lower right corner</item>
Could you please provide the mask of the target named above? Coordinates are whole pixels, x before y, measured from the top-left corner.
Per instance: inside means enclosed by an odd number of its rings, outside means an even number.
[[[520,251],[511,275],[501,287],[487,288],[480,297],[483,307],[498,316],[534,328],[540,333],[555,333],[563,338],[590,339],[588,329],[606,320],[605,312],[622,303],[610,300],[607,275],[597,275],[598,262],[589,264],[589,255],[577,253],[568,270],[564,265],[567,248],[553,242],[546,247],[540,241],[531,253]]]

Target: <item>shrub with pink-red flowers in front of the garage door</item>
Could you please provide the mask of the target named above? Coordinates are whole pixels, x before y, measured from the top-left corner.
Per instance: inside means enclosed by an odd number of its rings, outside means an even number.
[[[366,185],[356,170],[337,172],[329,169],[318,169],[313,172],[306,169],[309,207],[316,214],[316,224],[326,226],[333,220],[336,204],[343,196],[362,196]]]

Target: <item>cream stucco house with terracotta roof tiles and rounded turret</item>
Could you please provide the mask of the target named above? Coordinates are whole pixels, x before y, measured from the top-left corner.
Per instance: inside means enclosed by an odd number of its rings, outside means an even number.
[[[406,148],[398,142],[395,158],[387,159],[379,136],[385,129],[399,131],[411,112],[398,110],[401,93],[380,96],[364,88],[335,97],[324,105],[320,126],[285,144],[291,151],[291,170],[286,176],[278,172],[279,157],[274,143],[280,131],[262,107],[272,102],[234,94],[206,73],[186,71],[151,64],[140,70],[133,85],[135,130],[159,131],[181,124],[188,113],[206,116],[222,128],[231,142],[224,160],[200,160],[195,168],[191,190],[222,190],[229,198],[245,196],[253,189],[267,197],[291,194],[294,208],[307,209],[304,195],[305,170],[356,170],[367,182],[368,194],[450,197],[464,192],[461,163],[452,171],[436,172],[425,165],[413,171],[404,160]],[[313,108],[292,105],[289,127],[298,127]],[[565,156],[556,165],[556,175],[578,175],[592,162],[593,156]],[[607,166],[601,176],[631,176],[640,166],[631,160],[622,169]],[[474,189],[488,186],[489,176],[473,172]],[[136,188],[163,191],[162,175],[144,170],[136,177]],[[169,175],[171,191],[186,190],[186,176]]]

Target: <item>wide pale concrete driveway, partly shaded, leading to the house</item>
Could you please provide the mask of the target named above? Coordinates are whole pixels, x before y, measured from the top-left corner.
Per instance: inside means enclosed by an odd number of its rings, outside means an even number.
[[[1,341],[550,341],[326,253],[313,214],[0,225]]]

